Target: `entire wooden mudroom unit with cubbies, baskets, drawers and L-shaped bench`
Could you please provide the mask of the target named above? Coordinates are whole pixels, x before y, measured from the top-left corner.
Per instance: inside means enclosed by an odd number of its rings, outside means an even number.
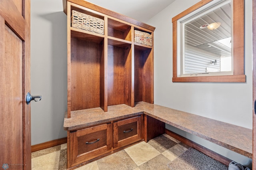
[[[164,133],[181,140],[166,124],[252,158],[252,130],[154,104],[153,26],[84,0],[63,9],[68,169]]]

